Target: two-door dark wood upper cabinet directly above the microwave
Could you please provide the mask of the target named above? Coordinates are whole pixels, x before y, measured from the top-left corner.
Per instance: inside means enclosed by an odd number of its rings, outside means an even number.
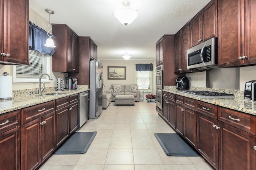
[[[191,21],[191,47],[217,37],[217,0],[210,2]]]

